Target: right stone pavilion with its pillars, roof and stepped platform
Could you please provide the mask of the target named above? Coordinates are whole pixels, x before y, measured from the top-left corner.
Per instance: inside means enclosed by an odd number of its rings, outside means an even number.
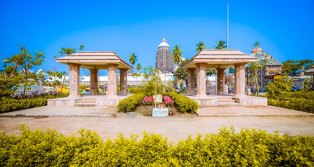
[[[200,106],[242,105],[266,106],[267,98],[245,95],[245,65],[257,62],[259,58],[239,50],[201,50],[182,69],[187,69],[187,97]],[[225,69],[235,67],[235,94],[225,94]],[[217,94],[206,94],[206,69],[217,70]],[[197,92],[194,92],[195,78]]]

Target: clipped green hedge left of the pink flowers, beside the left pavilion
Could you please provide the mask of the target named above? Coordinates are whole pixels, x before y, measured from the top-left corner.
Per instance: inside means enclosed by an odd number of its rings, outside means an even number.
[[[145,95],[143,93],[138,93],[135,95],[132,95],[130,97],[127,97],[123,100],[121,100],[118,103],[118,111],[119,112],[133,112],[135,111],[136,107],[140,106],[142,104],[143,98]]]

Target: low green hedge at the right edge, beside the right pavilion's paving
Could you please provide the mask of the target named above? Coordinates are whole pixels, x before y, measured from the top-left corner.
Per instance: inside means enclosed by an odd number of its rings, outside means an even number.
[[[314,113],[314,100],[308,100],[304,98],[293,97],[289,100],[268,98],[267,105]]]

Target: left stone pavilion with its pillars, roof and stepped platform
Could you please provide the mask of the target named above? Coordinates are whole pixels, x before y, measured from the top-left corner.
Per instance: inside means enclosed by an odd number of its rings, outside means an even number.
[[[47,100],[48,106],[96,105],[116,106],[119,100],[127,97],[127,70],[133,67],[113,51],[77,52],[56,59],[58,63],[69,65],[69,96]],[[90,70],[90,94],[79,95],[79,69]],[[98,70],[108,70],[108,91],[98,94]],[[117,70],[120,70],[120,92],[117,95]]]

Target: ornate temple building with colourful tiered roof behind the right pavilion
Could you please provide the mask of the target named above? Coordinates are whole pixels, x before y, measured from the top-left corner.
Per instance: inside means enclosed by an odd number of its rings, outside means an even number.
[[[258,57],[260,62],[262,62],[263,60],[266,60],[266,62],[262,63],[262,65],[265,65],[265,67],[263,67],[261,70],[258,70],[256,72],[258,76],[257,84],[259,86],[265,87],[269,81],[274,81],[277,78],[281,77],[280,75],[282,71],[282,63],[278,61],[277,59],[274,59],[273,56],[269,54],[265,54],[263,50],[259,48],[258,46],[255,46],[250,56]],[[253,83],[249,82],[250,78],[252,77],[253,72],[249,71],[248,67],[249,67],[249,64],[246,65],[246,68],[245,68],[245,83],[246,83],[246,86],[253,87],[253,86],[256,86],[256,84],[254,82]]]

